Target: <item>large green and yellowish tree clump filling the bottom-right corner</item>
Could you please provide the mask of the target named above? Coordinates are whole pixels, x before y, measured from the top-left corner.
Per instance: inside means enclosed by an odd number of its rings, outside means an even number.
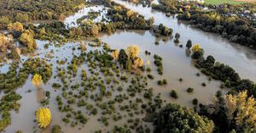
[[[211,104],[195,105],[194,110],[168,103],[165,107],[148,114],[154,122],[154,133],[254,133],[256,131],[256,101],[247,91],[237,95],[216,94]]]

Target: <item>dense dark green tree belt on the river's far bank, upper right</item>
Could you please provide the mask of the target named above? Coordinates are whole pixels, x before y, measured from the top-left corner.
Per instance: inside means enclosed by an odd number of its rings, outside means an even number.
[[[214,32],[228,38],[231,42],[256,48],[256,29],[253,21],[236,16],[225,16],[216,12],[188,12],[178,19],[188,20],[201,30]]]

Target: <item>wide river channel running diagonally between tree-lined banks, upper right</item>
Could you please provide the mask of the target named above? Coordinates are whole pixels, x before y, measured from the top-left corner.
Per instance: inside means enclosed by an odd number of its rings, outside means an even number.
[[[155,25],[166,25],[173,29],[174,34],[179,33],[181,35],[180,44],[186,45],[186,42],[190,39],[193,43],[200,44],[204,48],[206,55],[212,55],[219,62],[230,65],[241,75],[241,78],[256,81],[255,50],[232,43],[216,34],[195,29],[182,21],[166,17],[166,14],[152,10],[152,8],[121,0],[113,1],[125,5],[126,8],[130,8],[139,14],[143,14],[146,19],[154,17]]]

